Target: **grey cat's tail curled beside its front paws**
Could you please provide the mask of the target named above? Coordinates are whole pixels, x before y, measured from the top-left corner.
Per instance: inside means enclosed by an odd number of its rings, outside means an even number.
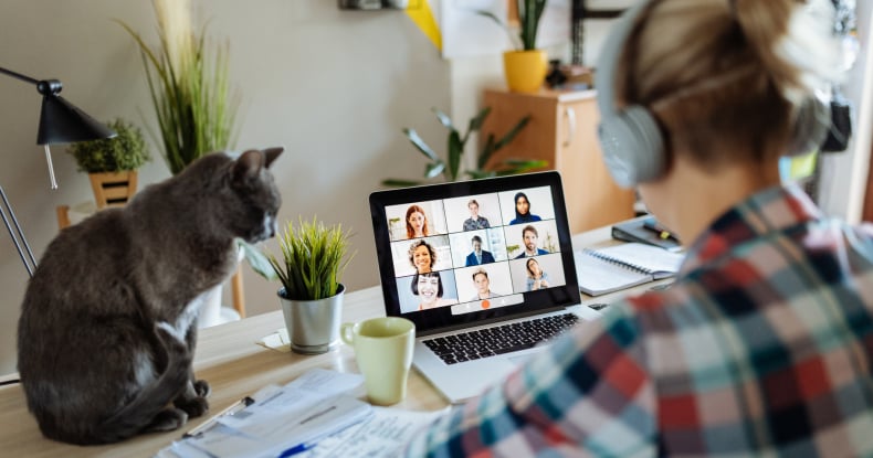
[[[97,441],[116,443],[137,435],[150,426],[157,419],[156,416],[185,391],[192,358],[185,337],[178,335],[176,329],[166,322],[157,323],[155,333],[167,351],[166,371],[150,385],[145,386],[120,411],[99,425],[94,432]],[[182,411],[171,414],[178,416],[180,424],[188,418]]]

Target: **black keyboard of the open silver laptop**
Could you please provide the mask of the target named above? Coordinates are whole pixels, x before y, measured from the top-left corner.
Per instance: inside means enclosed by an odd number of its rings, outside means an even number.
[[[446,364],[533,348],[572,328],[579,318],[574,313],[535,318],[494,328],[423,340]]]

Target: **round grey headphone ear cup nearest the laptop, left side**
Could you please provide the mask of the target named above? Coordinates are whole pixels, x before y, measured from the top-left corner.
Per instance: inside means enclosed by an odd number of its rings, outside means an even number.
[[[618,185],[632,188],[664,172],[664,139],[658,121],[644,107],[633,105],[604,117],[598,134],[603,162]]]

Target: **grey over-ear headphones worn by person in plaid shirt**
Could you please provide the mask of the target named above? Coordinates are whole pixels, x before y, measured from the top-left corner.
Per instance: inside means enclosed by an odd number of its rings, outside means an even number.
[[[637,19],[654,0],[643,0],[628,9],[613,25],[600,51],[595,72],[600,126],[598,137],[603,161],[612,179],[622,188],[653,181],[664,173],[664,138],[654,115],[644,106],[614,106],[613,82],[619,57]],[[810,96],[799,107],[787,156],[812,152],[822,145],[831,124],[830,106]]]

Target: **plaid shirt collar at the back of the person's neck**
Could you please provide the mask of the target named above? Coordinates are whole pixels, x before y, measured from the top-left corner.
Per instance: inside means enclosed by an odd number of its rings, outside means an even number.
[[[796,184],[765,189],[717,217],[690,246],[682,271],[709,263],[745,242],[821,217],[818,206]]]

